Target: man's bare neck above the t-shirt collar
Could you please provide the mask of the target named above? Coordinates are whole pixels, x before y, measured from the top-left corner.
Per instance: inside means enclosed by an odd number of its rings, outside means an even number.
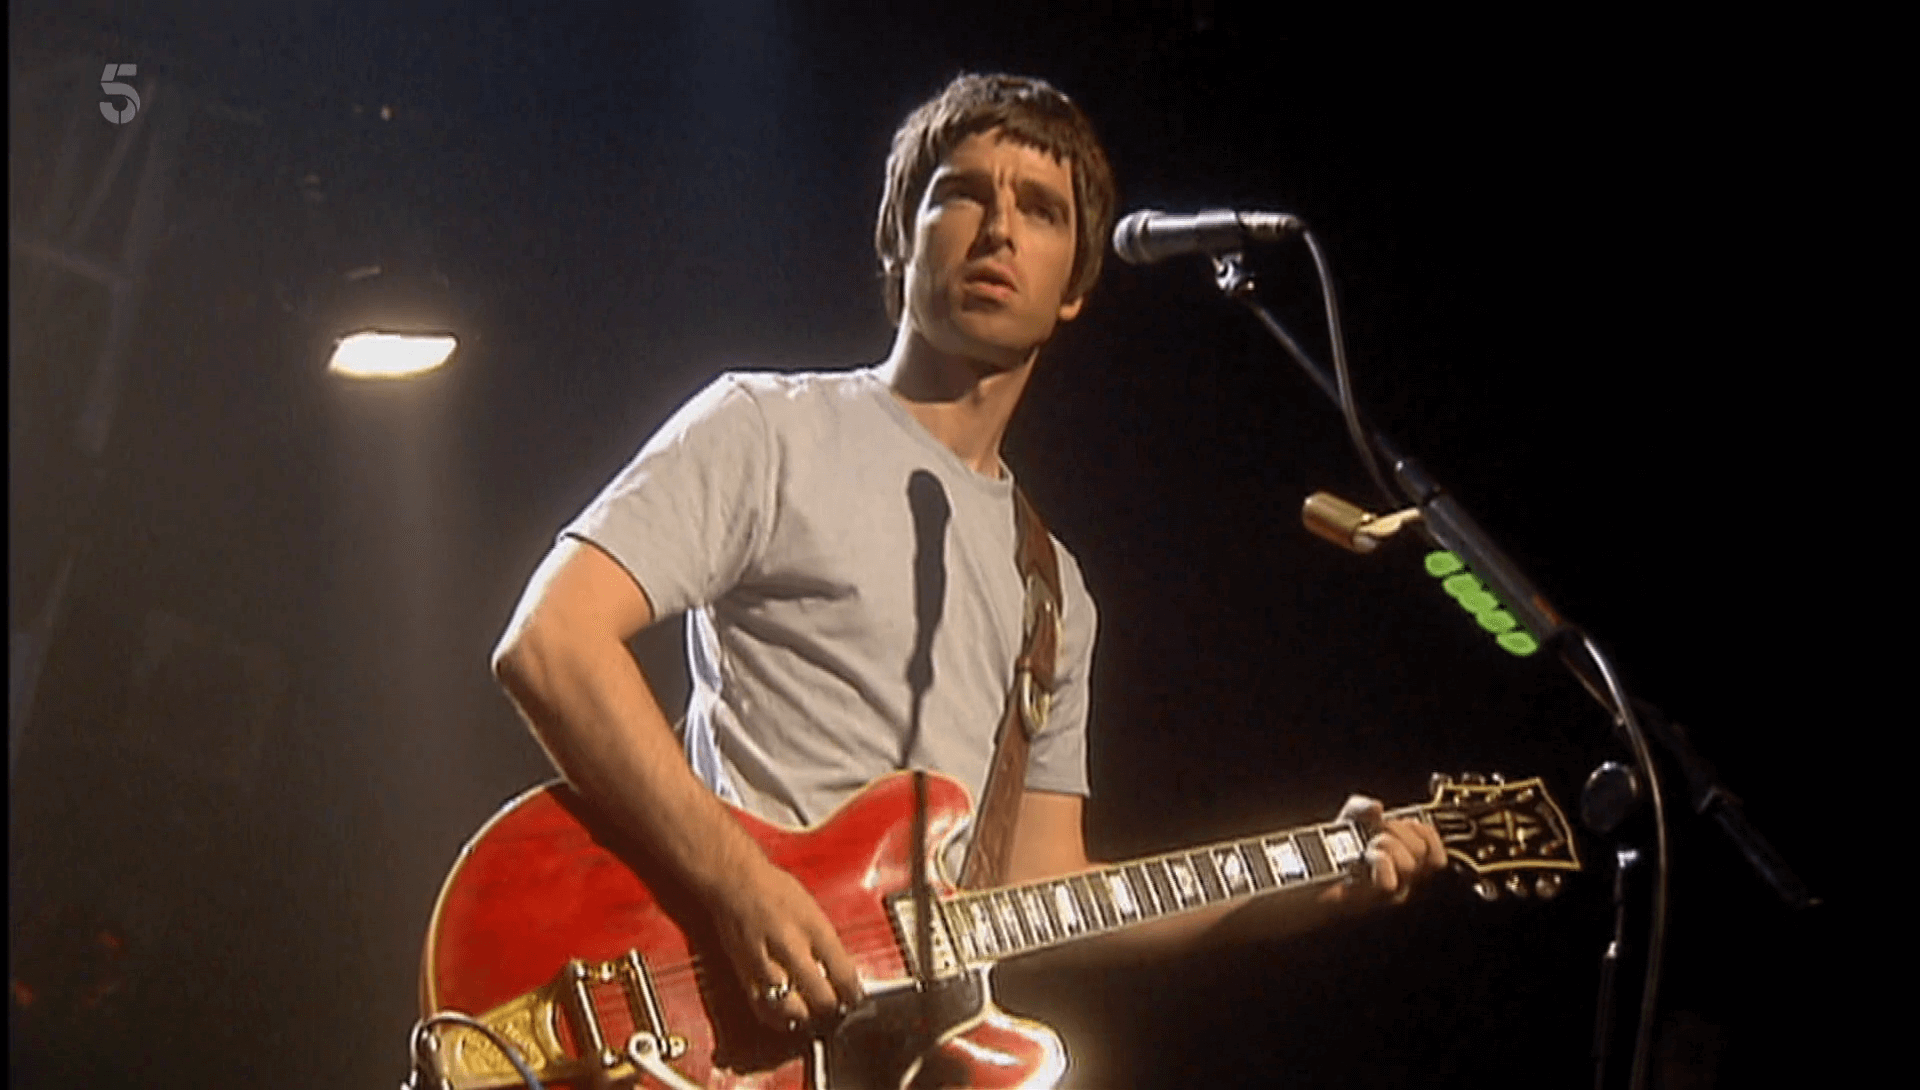
[[[1033,361],[1006,368],[948,355],[902,326],[881,363],[893,397],[973,472],[1000,476],[1000,438],[1033,374]]]

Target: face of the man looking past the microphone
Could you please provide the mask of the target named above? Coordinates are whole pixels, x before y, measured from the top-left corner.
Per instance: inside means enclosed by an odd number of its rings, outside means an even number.
[[[933,347],[1010,368],[1079,315],[1073,169],[998,129],[927,178],[906,263],[906,320]]]

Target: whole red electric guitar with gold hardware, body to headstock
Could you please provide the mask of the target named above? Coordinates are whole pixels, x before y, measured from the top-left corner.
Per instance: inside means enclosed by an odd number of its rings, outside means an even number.
[[[1567,818],[1538,779],[1436,777],[1432,802],[1390,816],[1430,821],[1482,896],[1501,885],[1549,896],[1559,871],[1580,869]],[[422,1009],[476,1017],[541,1082],[578,1090],[893,1090],[922,1073],[943,1086],[1054,1086],[1066,1048],[1050,1029],[993,1006],[993,963],[1340,881],[1365,850],[1361,829],[1329,821],[995,890],[956,890],[935,875],[922,931],[908,773],[874,781],[812,829],[737,818],[820,900],[868,983],[868,1000],[831,1032],[766,1029],[693,898],[559,783],[509,802],[453,864],[426,933]],[[968,818],[966,789],[927,775],[927,858],[941,858]],[[467,1025],[442,1019],[422,1046],[455,1090],[522,1084]]]

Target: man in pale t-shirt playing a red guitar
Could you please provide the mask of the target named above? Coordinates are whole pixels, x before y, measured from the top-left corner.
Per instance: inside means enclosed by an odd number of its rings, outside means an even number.
[[[906,119],[887,161],[876,244],[899,332],[885,361],[716,380],[564,528],[499,641],[495,675],[553,762],[701,900],[770,1027],[828,1023],[862,1000],[862,981],[806,887],[722,800],[812,825],[899,768],[943,771],[979,798],[1023,603],[1000,439],[1041,345],[1087,301],[1114,205],[1106,154],[1066,96],[1033,79],[956,79]],[[945,503],[931,626],[924,595],[916,610],[927,547],[916,474]],[[1081,810],[1094,606],[1054,549],[1060,666],[1008,883],[1092,865]],[[693,674],[684,733],[626,647],[680,612]],[[931,664],[918,695],[916,641]],[[1342,814],[1375,829],[1361,881],[1238,912],[1265,933],[1302,929],[1400,900],[1446,865],[1432,827],[1382,821],[1361,798]],[[1177,948],[1229,913],[1188,912],[1094,946]]]

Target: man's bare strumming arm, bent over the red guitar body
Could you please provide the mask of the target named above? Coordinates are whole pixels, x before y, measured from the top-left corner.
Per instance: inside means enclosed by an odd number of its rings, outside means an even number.
[[[599,814],[647,842],[712,912],[755,1009],[824,1017],[860,996],[852,960],[804,887],[774,867],[687,768],[628,637],[653,606],[599,549],[561,541],[534,572],[493,651],[493,674],[553,764]]]

